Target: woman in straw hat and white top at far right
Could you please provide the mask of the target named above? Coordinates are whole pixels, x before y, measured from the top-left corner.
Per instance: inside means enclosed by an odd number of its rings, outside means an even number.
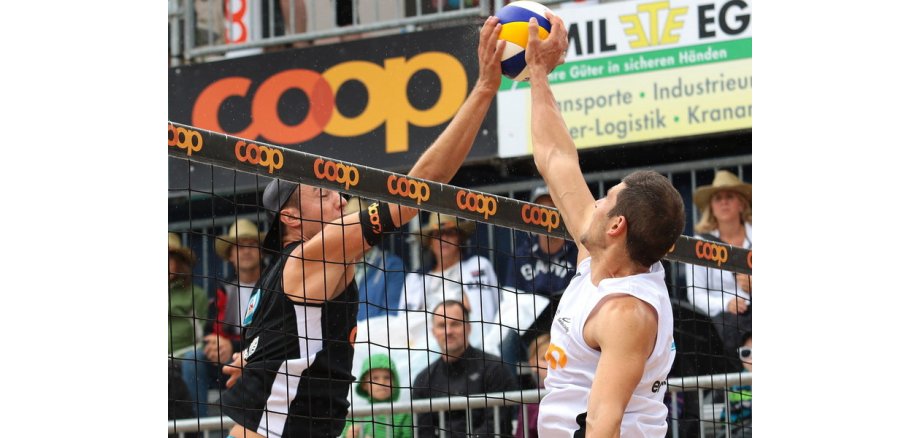
[[[751,248],[751,184],[727,171],[716,172],[711,185],[693,193],[702,212],[694,226],[697,237]],[[739,315],[751,304],[751,277],[729,271],[688,265],[687,296],[701,312],[715,317],[723,312]]]

